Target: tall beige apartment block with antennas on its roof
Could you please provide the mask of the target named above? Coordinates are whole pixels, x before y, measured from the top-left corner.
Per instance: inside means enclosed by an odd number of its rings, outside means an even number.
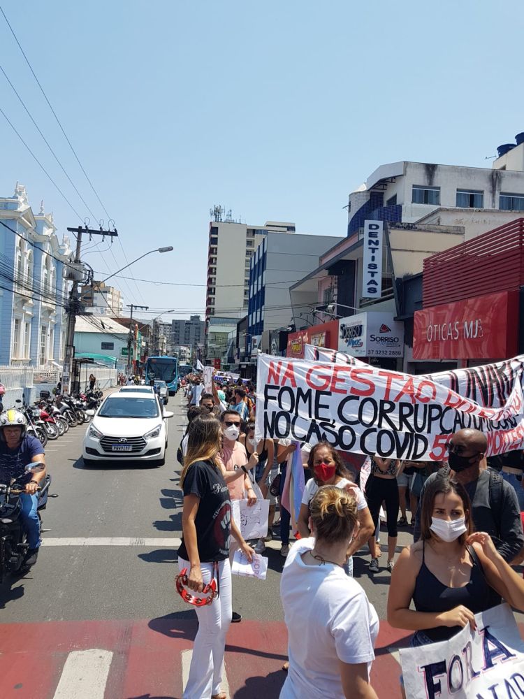
[[[239,319],[246,315],[251,258],[268,231],[294,233],[295,224],[272,221],[263,226],[231,221],[210,223],[206,322],[212,316]]]

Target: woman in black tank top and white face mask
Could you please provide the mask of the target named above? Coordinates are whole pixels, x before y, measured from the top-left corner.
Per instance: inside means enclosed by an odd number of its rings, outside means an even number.
[[[502,559],[490,536],[472,533],[471,503],[460,483],[443,476],[426,489],[421,540],[395,565],[388,622],[415,631],[412,645],[446,640],[501,597],[524,609],[524,580]],[[415,610],[409,605],[414,603]]]

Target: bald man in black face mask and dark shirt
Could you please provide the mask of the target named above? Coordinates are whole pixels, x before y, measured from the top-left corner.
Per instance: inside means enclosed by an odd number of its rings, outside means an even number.
[[[453,480],[463,484],[472,501],[475,531],[485,531],[493,539],[504,561],[511,563],[524,547],[521,511],[517,496],[509,483],[488,468],[488,440],[479,430],[456,432],[448,444],[448,464]],[[426,487],[441,471],[432,473],[423,485],[416,511],[414,540],[421,535],[421,504]]]

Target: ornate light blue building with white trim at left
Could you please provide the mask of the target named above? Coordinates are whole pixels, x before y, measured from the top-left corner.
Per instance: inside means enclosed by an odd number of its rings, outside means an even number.
[[[69,240],[59,243],[52,214],[42,203],[35,215],[18,183],[13,196],[0,198],[0,224],[0,365],[60,363]]]

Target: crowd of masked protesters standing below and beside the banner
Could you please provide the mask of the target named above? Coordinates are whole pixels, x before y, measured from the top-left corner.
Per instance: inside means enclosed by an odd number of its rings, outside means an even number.
[[[486,437],[472,429],[452,435],[442,463],[379,456],[356,463],[326,442],[302,444],[305,488],[297,531],[291,531],[282,494],[297,447],[290,440],[255,439],[254,384],[213,381],[205,390],[203,378],[190,375],[183,388],[189,424],[178,452],[184,493],[179,566],[189,571],[187,586],[195,593],[213,578],[220,589],[219,603],[196,607],[184,698],[226,696],[225,637],[229,624],[241,620],[233,611],[230,561],[236,549],[248,560],[263,552],[276,536],[277,507],[289,633],[281,699],[376,697],[370,667],[379,620],[353,578],[352,556],[367,545],[369,572],[379,571],[384,519],[388,621],[412,630],[412,645],[449,639],[502,599],[524,610],[524,580],[511,568],[524,557],[523,452],[488,463]],[[254,483],[259,496],[270,498],[268,535],[245,542],[230,503],[254,504]],[[414,543],[395,561],[399,527],[412,531]],[[291,536],[296,542],[290,548]]]

